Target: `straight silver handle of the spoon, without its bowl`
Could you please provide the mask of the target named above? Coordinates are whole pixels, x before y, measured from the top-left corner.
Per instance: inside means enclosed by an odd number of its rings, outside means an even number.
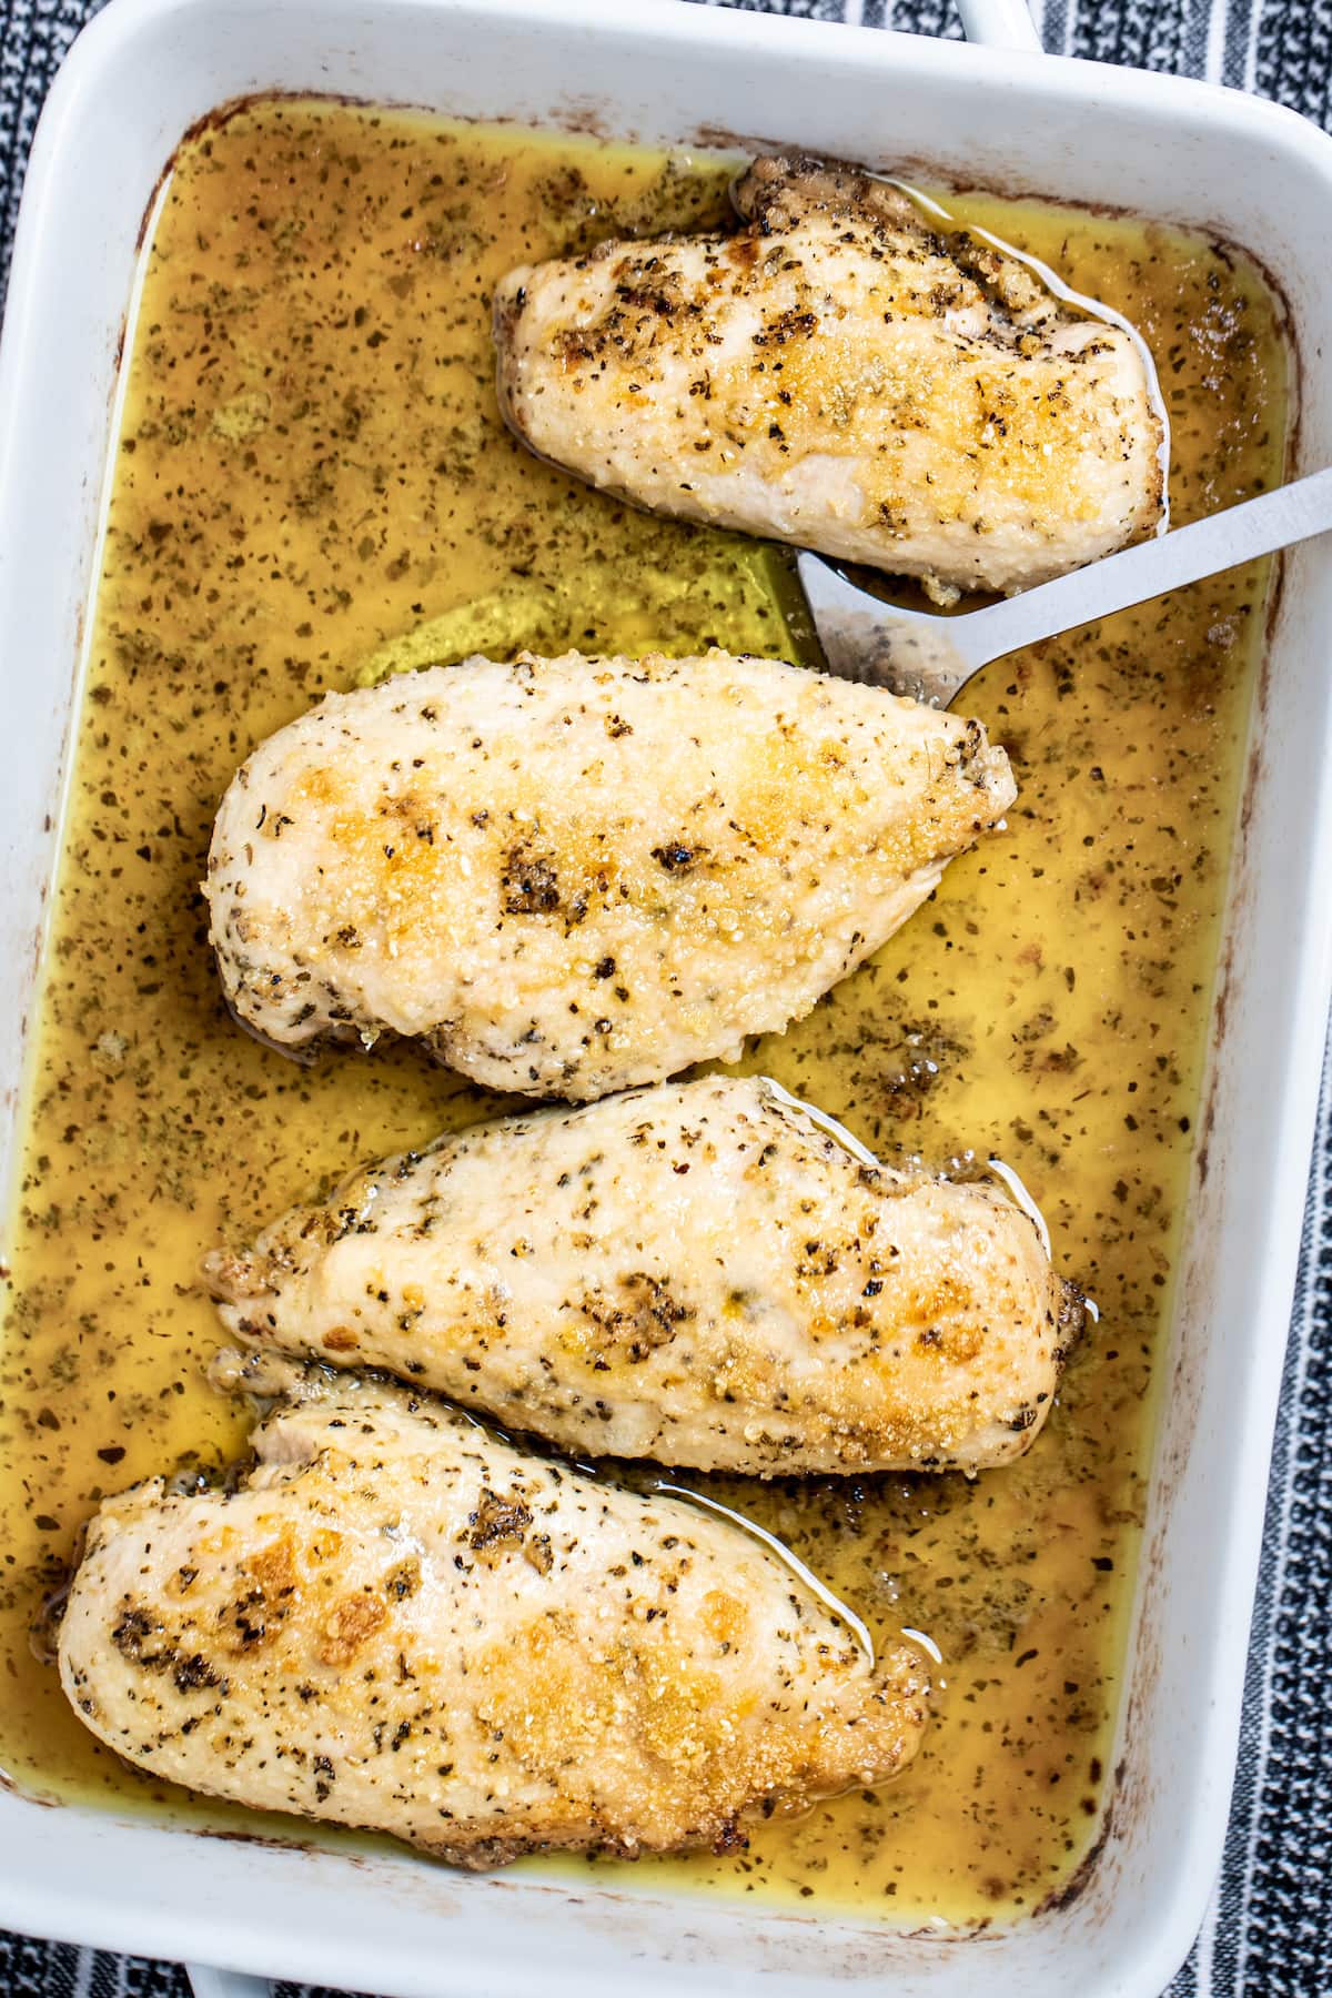
[[[1154,541],[1140,541],[1118,555],[1106,555],[1052,583],[1040,583],[1018,597],[989,603],[955,619],[951,637],[969,659],[1000,659],[1018,645],[1056,637],[1078,625],[1126,611],[1132,603],[1182,589],[1204,575],[1234,569],[1240,561],[1272,555],[1292,541],[1332,529],[1332,468],[1312,472],[1290,486],[1276,486],[1256,500],[1222,513],[1208,513],[1188,527],[1174,527]],[[965,627],[965,629],[963,629]]]

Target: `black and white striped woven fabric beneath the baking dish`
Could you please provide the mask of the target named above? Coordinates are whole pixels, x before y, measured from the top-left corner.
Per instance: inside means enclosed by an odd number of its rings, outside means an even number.
[[[42,98],[98,4],[0,0],[0,288]],[[723,4],[961,34],[949,0]],[[1032,0],[1032,12],[1056,54],[1204,76],[1332,126],[1332,0]],[[1324,1077],[1226,1858],[1170,1998],[1332,1998],[1330,1650],[1332,1085]],[[0,1936],[0,1994],[188,1998],[188,1982],[168,1964]]]

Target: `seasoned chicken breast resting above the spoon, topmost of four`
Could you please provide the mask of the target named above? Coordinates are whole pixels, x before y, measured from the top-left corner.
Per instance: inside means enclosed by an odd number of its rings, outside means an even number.
[[[533,452],[935,589],[1026,589],[1154,529],[1162,424],[1128,332],[851,170],[759,160],[737,202],[737,236],[503,280],[499,406]]]

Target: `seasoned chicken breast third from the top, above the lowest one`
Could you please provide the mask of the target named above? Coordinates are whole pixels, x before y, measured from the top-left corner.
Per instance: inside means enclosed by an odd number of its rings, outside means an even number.
[[[867,1167],[725,1075],[387,1159],[206,1281],[248,1343],[761,1477],[1010,1463],[1080,1323],[1006,1193]]]

